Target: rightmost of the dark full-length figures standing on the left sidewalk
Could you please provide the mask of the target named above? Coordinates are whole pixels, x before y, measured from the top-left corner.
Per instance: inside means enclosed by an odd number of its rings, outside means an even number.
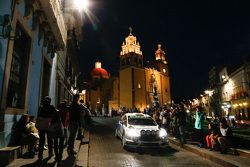
[[[69,155],[77,154],[74,150],[74,144],[77,137],[78,129],[81,126],[81,109],[78,100],[79,95],[74,95],[72,104],[69,107],[69,140],[67,149]]]

